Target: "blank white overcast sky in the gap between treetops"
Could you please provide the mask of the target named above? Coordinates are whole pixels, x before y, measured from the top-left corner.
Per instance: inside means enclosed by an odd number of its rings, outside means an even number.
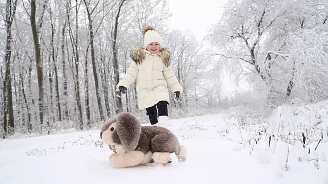
[[[173,28],[191,30],[200,41],[208,26],[216,22],[227,0],[169,0]]]

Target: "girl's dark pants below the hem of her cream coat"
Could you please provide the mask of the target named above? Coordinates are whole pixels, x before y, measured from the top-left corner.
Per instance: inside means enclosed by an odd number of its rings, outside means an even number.
[[[158,116],[168,116],[168,102],[167,101],[160,101],[156,105],[146,108],[147,115],[149,116],[150,124],[152,124],[152,125],[155,125],[158,122],[156,106],[158,109]]]

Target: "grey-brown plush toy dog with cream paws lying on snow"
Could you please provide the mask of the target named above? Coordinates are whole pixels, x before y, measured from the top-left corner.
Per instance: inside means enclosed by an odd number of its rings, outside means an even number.
[[[177,137],[159,126],[141,126],[129,112],[119,113],[100,128],[100,139],[114,151],[109,161],[114,168],[133,167],[147,163],[167,164],[171,154],[185,161],[187,149]]]

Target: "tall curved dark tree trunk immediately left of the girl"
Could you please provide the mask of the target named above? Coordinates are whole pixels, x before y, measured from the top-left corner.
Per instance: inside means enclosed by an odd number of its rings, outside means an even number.
[[[113,44],[112,44],[112,49],[113,49],[113,67],[114,67],[114,75],[115,75],[115,102],[116,102],[116,108],[115,112],[120,113],[122,112],[122,99],[121,99],[121,94],[119,93],[119,90],[116,90],[116,85],[119,82],[119,72],[118,72],[118,59],[117,59],[117,50],[116,50],[116,39],[117,39],[117,31],[118,31],[118,18],[120,15],[120,11],[122,8],[122,5],[124,4],[125,0],[121,0],[118,5],[118,10],[117,14],[115,17],[115,23],[114,23],[114,34],[113,34]]]

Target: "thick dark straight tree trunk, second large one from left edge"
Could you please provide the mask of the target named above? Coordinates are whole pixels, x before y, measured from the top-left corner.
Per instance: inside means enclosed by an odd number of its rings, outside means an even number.
[[[37,84],[38,84],[38,107],[39,107],[39,120],[41,129],[43,126],[43,66],[41,62],[41,55],[40,55],[40,44],[37,34],[36,22],[35,22],[35,14],[36,14],[36,6],[35,0],[31,0],[31,27],[32,27],[32,34],[33,34],[33,41],[34,41],[34,51],[35,51],[35,60],[36,60],[36,72],[37,72]]]

